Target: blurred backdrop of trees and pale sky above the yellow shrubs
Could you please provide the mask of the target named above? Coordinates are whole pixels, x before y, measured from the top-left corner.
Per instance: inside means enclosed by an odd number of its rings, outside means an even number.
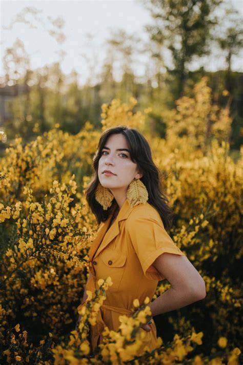
[[[136,110],[152,107],[151,135],[164,138],[161,113],[208,76],[239,150],[242,14],[242,0],[2,1],[0,128],[10,140],[30,139],[37,124],[99,128],[103,103],[134,97]]]

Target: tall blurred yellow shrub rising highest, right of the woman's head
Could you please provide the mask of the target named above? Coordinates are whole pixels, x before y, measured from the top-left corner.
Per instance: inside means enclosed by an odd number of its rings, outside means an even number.
[[[216,138],[227,141],[231,131],[229,107],[220,109],[212,103],[212,90],[207,86],[208,78],[202,78],[194,87],[194,98],[182,97],[176,102],[176,109],[170,112],[167,125],[167,139],[174,136],[190,139],[190,144],[203,151]]]

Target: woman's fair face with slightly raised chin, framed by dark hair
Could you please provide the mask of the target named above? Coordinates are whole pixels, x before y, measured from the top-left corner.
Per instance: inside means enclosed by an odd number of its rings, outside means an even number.
[[[126,193],[128,185],[138,173],[137,164],[132,162],[126,138],[122,134],[111,135],[102,149],[98,163],[98,178],[102,186],[109,188],[112,193]],[[104,171],[110,170],[112,174]]]

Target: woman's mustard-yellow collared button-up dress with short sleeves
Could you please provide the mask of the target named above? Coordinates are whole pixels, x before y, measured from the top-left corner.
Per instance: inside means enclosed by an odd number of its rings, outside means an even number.
[[[90,280],[86,290],[98,289],[97,281],[109,276],[113,282],[98,312],[97,323],[91,326],[92,350],[102,343],[105,326],[118,330],[119,316],[132,313],[134,299],[143,304],[149,297],[151,302],[158,281],[165,279],[153,266],[155,259],[165,252],[186,256],[166,232],[157,210],[148,202],[131,207],[126,199],[109,227],[111,219],[110,216],[100,223],[89,251]],[[146,335],[139,353],[146,345],[150,351],[157,347],[153,319],[150,328],[150,332],[140,328]]]

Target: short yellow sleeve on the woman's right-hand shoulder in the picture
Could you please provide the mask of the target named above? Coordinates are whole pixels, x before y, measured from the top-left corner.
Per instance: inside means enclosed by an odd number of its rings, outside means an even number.
[[[152,213],[146,217],[145,215],[137,214],[136,217],[128,219],[126,228],[129,240],[135,249],[147,279],[165,279],[152,265],[159,255],[168,252],[170,254],[186,256],[166,232],[159,215]]]

